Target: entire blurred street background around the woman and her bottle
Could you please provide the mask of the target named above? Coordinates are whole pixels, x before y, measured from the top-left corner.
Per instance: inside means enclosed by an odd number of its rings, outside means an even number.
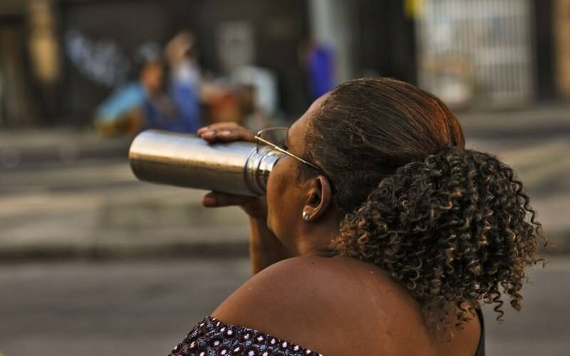
[[[487,355],[568,355],[570,0],[0,0],[0,355],[170,352],[249,278],[247,219],[138,182],[130,141],[370,75],[450,105],[556,244]]]

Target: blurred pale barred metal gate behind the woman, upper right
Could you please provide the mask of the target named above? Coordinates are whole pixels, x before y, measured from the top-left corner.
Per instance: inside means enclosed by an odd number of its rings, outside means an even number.
[[[418,80],[447,104],[512,108],[534,99],[529,0],[424,0]]]

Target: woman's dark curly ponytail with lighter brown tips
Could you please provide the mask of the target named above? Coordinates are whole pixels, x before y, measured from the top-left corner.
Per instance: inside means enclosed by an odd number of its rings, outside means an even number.
[[[502,311],[502,295],[516,310],[524,268],[537,263],[547,242],[513,169],[496,157],[448,147],[410,162],[383,179],[341,222],[333,248],[375,263],[418,300],[432,322],[450,305],[480,301]]]

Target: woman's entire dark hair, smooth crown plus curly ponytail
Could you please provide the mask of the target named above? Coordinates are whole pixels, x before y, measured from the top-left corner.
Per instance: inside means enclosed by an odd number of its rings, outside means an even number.
[[[387,271],[428,325],[454,308],[461,328],[481,301],[500,319],[503,295],[521,308],[524,268],[547,244],[541,224],[513,169],[465,149],[438,98],[398,80],[350,80],[323,101],[306,142],[344,216],[331,248]]]

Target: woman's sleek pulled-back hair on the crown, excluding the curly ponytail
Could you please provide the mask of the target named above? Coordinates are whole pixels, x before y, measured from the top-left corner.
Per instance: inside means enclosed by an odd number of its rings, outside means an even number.
[[[331,174],[333,201],[343,214],[356,209],[398,167],[445,147],[465,147],[457,118],[441,100],[389,78],[339,85],[308,123],[306,157]]]

